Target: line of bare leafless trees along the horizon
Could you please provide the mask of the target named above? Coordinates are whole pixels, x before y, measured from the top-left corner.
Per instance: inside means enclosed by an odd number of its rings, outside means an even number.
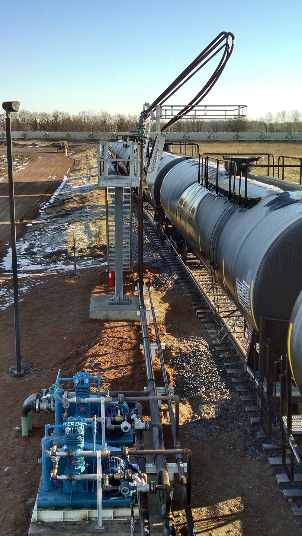
[[[256,120],[246,117],[227,121],[179,120],[168,129],[171,132],[301,132],[301,114],[298,110],[268,112]],[[108,111],[85,111],[69,114],[20,110],[11,114],[14,131],[51,132],[129,132],[136,130],[138,115],[109,114]],[[161,123],[162,126],[165,122]],[[152,125],[155,130],[155,124]],[[5,130],[5,116],[0,115],[0,129]]]

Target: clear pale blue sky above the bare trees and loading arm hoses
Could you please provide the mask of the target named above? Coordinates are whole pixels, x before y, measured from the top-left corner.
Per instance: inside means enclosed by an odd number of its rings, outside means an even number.
[[[230,31],[233,54],[204,103],[245,104],[249,117],[302,111],[300,0],[0,0],[0,9],[0,99],[20,109],[139,113]],[[207,75],[171,103],[187,103]]]

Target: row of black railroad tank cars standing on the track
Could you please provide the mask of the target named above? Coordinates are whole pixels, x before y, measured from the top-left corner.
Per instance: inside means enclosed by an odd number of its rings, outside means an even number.
[[[112,145],[119,173],[128,173],[129,154],[127,143]],[[182,257],[194,251],[244,317],[246,366],[265,394],[270,434],[284,368],[302,392],[302,187],[255,175],[256,160],[225,155],[201,163],[163,152],[144,193],[158,234]],[[300,413],[296,400],[292,411]]]

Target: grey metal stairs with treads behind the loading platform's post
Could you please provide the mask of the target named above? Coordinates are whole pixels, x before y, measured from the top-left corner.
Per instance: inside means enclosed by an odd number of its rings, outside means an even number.
[[[123,271],[131,270],[132,260],[132,188],[123,188]],[[115,269],[115,188],[105,189],[108,270]]]

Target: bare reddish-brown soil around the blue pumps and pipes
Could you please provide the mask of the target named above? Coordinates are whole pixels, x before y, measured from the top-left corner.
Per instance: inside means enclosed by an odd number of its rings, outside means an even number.
[[[79,173],[88,173],[90,152],[77,156]],[[78,205],[80,198],[77,198]],[[83,203],[89,203],[87,195]],[[94,197],[92,198],[94,203]],[[75,198],[70,199],[75,207]],[[68,207],[65,200],[64,207]],[[58,207],[56,206],[56,210]],[[99,239],[93,230],[95,241]],[[92,233],[92,235],[93,235]],[[98,236],[97,236],[98,235]],[[104,236],[104,233],[102,234]],[[94,240],[92,236],[91,240]],[[91,242],[93,243],[93,242]],[[89,249],[82,255],[89,255]],[[49,266],[50,268],[50,266]],[[13,306],[1,311],[0,361],[0,535],[26,536],[31,512],[41,476],[41,437],[44,426],[53,422],[52,414],[33,415],[33,429],[28,437],[21,436],[21,407],[25,398],[54,383],[58,368],[72,376],[78,370],[101,374],[104,389],[142,389],[146,382],[143,353],[139,349],[142,334],[139,323],[108,323],[89,319],[93,294],[109,294],[108,274],[104,267],[70,270],[36,270],[23,273],[23,284],[31,287],[20,301],[20,336],[23,363],[33,371],[24,378],[13,379],[9,373],[14,364]],[[146,276],[158,271],[146,266]],[[134,293],[135,271],[128,274],[124,289]],[[3,272],[1,282],[12,287],[11,274]],[[160,287],[153,291],[155,307],[170,383],[175,383],[171,358],[180,351],[184,336],[210,341],[209,334],[190,308],[181,287]],[[150,328],[154,340],[153,327]],[[198,366],[198,364],[196,364]],[[154,362],[160,381],[159,360]],[[235,392],[231,404],[240,404]],[[298,536],[300,523],[291,512],[275,483],[275,472],[266,457],[253,459],[247,455],[237,431],[219,431],[216,438],[200,434],[196,419],[213,419],[215,411],[206,401],[201,413],[195,399],[183,399],[181,404],[181,445],[193,451],[193,515],[197,534],[203,536]],[[167,415],[163,407],[165,445],[171,446]],[[170,460],[168,460],[170,461]],[[171,461],[174,461],[171,459]],[[178,483],[175,482],[174,512],[178,536],[185,536],[185,516]]]

